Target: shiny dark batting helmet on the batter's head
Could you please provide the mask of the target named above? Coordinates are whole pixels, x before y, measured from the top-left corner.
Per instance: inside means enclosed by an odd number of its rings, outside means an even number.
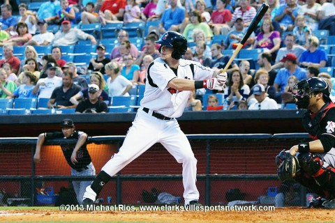
[[[175,31],[164,33],[161,39],[157,40],[156,43],[161,44],[161,47],[167,46],[174,49],[172,58],[177,60],[183,58],[187,50],[186,38]],[[159,48],[159,52],[161,52],[161,47]]]

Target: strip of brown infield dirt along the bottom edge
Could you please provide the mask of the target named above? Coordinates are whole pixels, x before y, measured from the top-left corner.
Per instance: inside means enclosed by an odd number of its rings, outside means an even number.
[[[335,210],[276,208],[273,211],[60,211],[0,208],[0,222],[334,222]]]

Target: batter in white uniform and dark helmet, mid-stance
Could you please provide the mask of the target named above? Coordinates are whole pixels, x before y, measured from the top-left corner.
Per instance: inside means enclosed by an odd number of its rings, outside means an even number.
[[[161,57],[147,68],[144,98],[133,125],[119,153],[112,156],[91,186],[87,187],[82,202],[84,205],[93,204],[111,176],[157,142],[182,164],[185,204],[200,205],[195,185],[197,160],[176,118],[183,114],[191,91],[205,87],[222,90],[227,73],[182,59],[187,49],[187,40],[180,33],[168,31],[156,43],[161,44]]]

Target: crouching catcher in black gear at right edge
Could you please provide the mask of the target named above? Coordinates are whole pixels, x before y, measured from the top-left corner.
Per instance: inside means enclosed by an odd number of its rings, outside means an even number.
[[[335,104],[329,84],[319,77],[303,79],[292,93],[297,109],[306,109],[302,125],[313,141],[276,156],[278,178],[293,178],[318,194],[308,207],[335,208]]]

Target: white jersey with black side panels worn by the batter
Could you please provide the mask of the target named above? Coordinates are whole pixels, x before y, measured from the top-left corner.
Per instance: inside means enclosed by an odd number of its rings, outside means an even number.
[[[180,117],[191,91],[170,89],[168,83],[176,77],[194,80],[209,79],[213,76],[214,70],[195,61],[180,59],[177,75],[174,72],[161,58],[149,64],[141,107],[147,107],[170,118]]]

